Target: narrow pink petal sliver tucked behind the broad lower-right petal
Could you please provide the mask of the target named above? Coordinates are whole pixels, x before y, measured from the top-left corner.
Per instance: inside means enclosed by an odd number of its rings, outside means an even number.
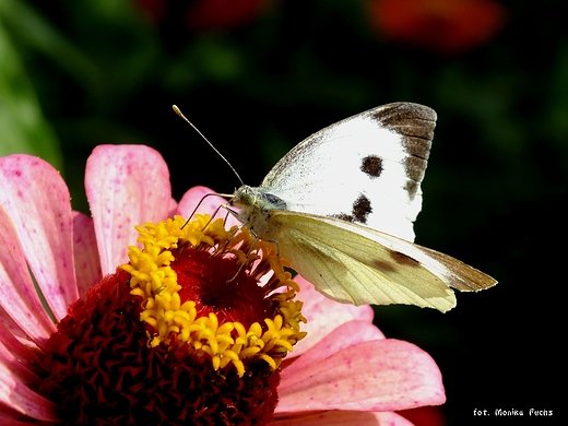
[[[318,364],[320,360],[336,352],[340,352],[345,347],[353,346],[357,343],[370,342],[372,340],[380,339],[384,339],[384,334],[382,334],[378,328],[369,322],[345,322],[326,335],[309,351],[295,358],[294,363],[292,363],[289,366],[286,366],[282,371],[281,383],[285,383],[286,380],[296,380],[296,375],[304,374],[305,368],[309,368],[310,365]]]

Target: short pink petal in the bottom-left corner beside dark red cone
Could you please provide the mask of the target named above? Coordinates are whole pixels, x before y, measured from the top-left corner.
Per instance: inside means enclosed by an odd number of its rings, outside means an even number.
[[[57,405],[29,390],[0,363],[0,402],[29,417],[57,421]]]

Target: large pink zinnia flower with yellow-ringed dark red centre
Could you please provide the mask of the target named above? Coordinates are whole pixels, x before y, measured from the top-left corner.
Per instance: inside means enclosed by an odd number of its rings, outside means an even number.
[[[154,150],[98,146],[87,162],[85,187],[92,218],[71,210],[67,186],[44,161],[28,155],[0,158],[2,424],[141,424],[140,418],[185,424],[199,417],[205,424],[256,418],[257,424],[379,419],[406,425],[393,411],[443,403],[440,372],[428,354],[407,342],[384,339],[371,324],[370,307],[329,300],[296,277],[301,308],[292,299],[296,284],[289,274],[269,265],[275,257],[269,262],[263,253],[249,251],[246,233],[227,239],[225,230],[215,227],[220,221],[206,225],[215,233],[203,232],[201,242],[191,246],[180,237],[171,244],[171,235],[162,230],[169,226],[178,235],[192,223],[176,228],[175,221],[161,221],[174,214],[188,217],[211,191],[193,188],[176,203],[167,166]],[[199,212],[212,213],[220,203],[220,198],[206,198]],[[158,264],[152,280],[159,286],[152,289],[144,281],[147,262],[139,262],[149,252],[163,260],[163,251],[131,247],[128,253],[127,247],[139,238],[137,224],[146,224],[138,229],[145,248],[154,237],[159,247],[170,244],[170,269],[180,283],[182,275],[189,283],[180,293],[198,300],[196,309],[205,309],[205,319],[218,321],[209,340],[184,343],[182,333],[171,334],[170,328],[159,326],[167,315],[157,317],[156,309],[149,313],[149,299],[141,304],[144,288],[152,304],[158,304],[169,281]],[[199,226],[201,232],[203,225]],[[208,251],[208,241],[215,239],[222,244]],[[239,251],[242,247],[247,256]],[[188,252],[194,255],[189,263],[184,258]],[[236,256],[227,258],[228,252]],[[129,258],[131,262],[117,270]],[[208,286],[217,274],[223,291],[213,292]],[[264,286],[251,286],[251,279],[262,279]],[[144,285],[135,287],[137,281]],[[287,291],[277,293],[283,286]],[[260,288],[260,296],[252,294],[255,288]],[[272,310],[276,317],[258,326],[258,336],[247,334],[245,343],[232,339],[236,329],[223,334],[228,321],[241,327],[238,321],[272,318]],[[205,322],[192,324],[190,334],[210,332]],[[265,343],[259,344],[261,340]],[[294,351],[284,357],[288,346]]]

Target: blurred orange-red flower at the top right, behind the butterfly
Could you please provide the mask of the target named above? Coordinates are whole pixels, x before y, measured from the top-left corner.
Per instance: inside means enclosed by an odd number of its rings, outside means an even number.
[[[382,35],[447,55],[487,42],[506,15],[493,0],[369,0],[368,5]]]

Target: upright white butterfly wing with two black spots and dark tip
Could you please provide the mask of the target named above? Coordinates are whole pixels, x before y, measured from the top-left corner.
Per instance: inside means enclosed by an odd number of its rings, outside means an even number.
[[[296,212],[338,217],[414,240],[421,182],[436,113],[389,104],[332,125],[300,142],[261,189]]]

